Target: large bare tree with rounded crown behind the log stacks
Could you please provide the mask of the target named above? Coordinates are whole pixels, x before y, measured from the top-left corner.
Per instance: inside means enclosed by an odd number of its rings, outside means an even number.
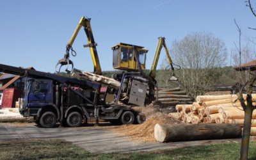
[[[204,94],[216,84],[214,69],[222,67],[227,57],[225,43],[205,32],[174,40],[170,52],[173,61],[182,68],[176,72],[177,77],[193,97]]]

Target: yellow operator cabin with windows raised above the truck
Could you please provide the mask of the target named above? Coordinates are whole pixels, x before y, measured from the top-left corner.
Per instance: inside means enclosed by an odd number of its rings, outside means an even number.
[[[120,43],[112,47],[113,68],[118,70],[139,71],[138,59],[141,69],[145,70],[147,49],[138,45]],[[137,58],[136,58],[137,55]]]

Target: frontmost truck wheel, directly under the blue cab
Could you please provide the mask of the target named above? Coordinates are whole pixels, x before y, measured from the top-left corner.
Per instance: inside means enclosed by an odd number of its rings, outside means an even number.
[[[40,125],[44,128],[52,128],[56,125],[57,118],[51,111],[45,112],[40,118]]]

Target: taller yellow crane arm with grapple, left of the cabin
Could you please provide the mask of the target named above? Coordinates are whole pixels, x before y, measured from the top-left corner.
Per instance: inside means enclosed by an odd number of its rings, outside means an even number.
[[[61,65],[60,68],[63,65],[72,65],[72,68],[74,67],[73,62],[71,60],[69,60],[69,52],[71,50],[71,54],[72,56],[76,56],[76,52],[72,49],[72,44],[74,43],[74,40],[76,39],[76,36],[79,32],[79,30],[82,28],[82,26],[84,27],[84,31],[86,33],[87,36],[87,40],[88,40],[88,44],[84,45],[84,47],[89,47],[90,48],[90,52],[92,55],[92,60],[93,60],[93,67],[94,67],[94,73],[101,75],[102,71],[100,68],[100,62],[99,62],[99,56],[97,53],[97,43],[95,43],[94,38],[93,38],[93,33],[92,33],[92,28],[91,28],[91,24],[90,24],[90,20],[91,19],[86,19],[85,17],[82,17],[79,21],[79,24],[76,27],[76,30],[74,31],[72,37],[70,38],[67,47],[66,47],[66,54],[64,55],[64,58],[62,58],[61,60],[58,61],[57,65],[56,65],[56,69],[58,65]],[[71,70],[72,70],[71,68]],[[71,72],[71,70],[68,70],[68,66],[67,69],[65,70],[66,72]],[[59,70],[56,70],[56,72],[60,72]]]

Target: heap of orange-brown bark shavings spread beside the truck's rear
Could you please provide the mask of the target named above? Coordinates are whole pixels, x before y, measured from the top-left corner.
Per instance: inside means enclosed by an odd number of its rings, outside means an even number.
[[[120,125],[112,130],[137,141],[155,142],[154,127],[156,124],[180,124],[180,120],[172,118],[165,113],[159,112],[157,108],[135,108],[136,111],[147,116],[143,124]]]

